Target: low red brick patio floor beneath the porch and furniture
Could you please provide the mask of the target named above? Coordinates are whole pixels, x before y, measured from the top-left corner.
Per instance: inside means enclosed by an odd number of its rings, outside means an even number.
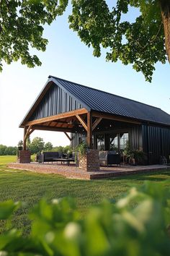
[[[60,163],[9,163],[9,168],[34,171],[42,174],[59,174],[71,179],[106,179],[129,174],[145,174],[151,171],[166,170],[169,166],[112,166],[100,167],[99,171],[84,171],[75,165],[66,166]],[[170,170],[170,169],[169,169]]]

